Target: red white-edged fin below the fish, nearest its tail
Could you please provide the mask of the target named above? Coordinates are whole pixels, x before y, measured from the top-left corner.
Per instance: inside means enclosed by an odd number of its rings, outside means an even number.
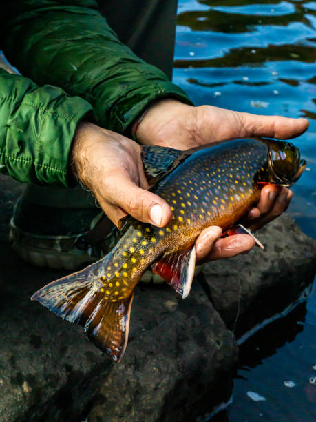
[[[154,263],[152,270],[185,299],[191,290],[196,266],[196,248],[165,255]]]

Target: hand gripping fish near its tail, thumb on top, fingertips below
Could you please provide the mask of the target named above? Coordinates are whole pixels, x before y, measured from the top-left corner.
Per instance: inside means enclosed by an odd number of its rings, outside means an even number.
[[[120,134],[80,123],[72,146],[72,170],[95,194],[107,217],[117,226],[127,214],[158,227],[171,219],[171,208],[148,192],[140,146]],[[253,247],[245,234],[219,239],[222,230],[211,227],[196,241],[197,262],[232,257]],[[214,248],[212,249],[214,244]],[[212,252],[210,252],[212,250]]]

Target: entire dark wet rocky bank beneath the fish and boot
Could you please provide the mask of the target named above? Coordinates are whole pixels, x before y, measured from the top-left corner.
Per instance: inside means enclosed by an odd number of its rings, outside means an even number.
[[[240,336],[286,308],[315,272],[315,242],[287,217],[258,234],[266,250],[210,263],[178,299],[137,289],[129,345],[112,365],[71,325],[30,301],[65,272],[23,263],[8,244],[22,190],[0,177],[0,421],[194,421],[231,394]]]

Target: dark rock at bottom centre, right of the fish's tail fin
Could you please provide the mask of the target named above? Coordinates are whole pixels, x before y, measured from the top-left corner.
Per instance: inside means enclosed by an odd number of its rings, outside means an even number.
[[[89,422],[193,421],[229,400],[235,343],[198,283],[185,301],[140,288],[133,313],[132,341]]]

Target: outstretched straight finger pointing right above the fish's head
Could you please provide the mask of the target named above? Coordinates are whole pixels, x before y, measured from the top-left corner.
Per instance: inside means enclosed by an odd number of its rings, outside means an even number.
[[[309,125],[308,120],[302,117],[292,119],[282,116],[261,116],[249,113],[239,113],[238,117],[246,137],[290,139],[304,133]]]

